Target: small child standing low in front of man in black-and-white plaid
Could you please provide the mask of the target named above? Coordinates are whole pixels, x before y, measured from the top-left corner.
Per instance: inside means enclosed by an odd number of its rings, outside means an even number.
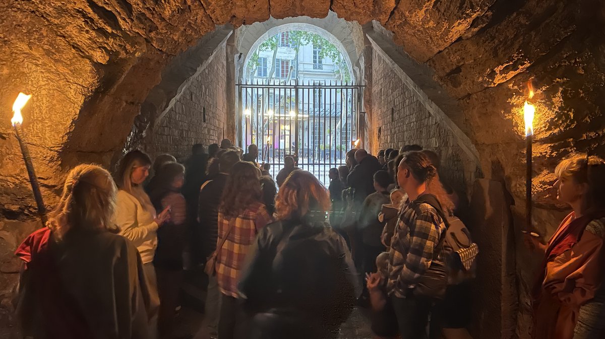
[[[371,329],[379,338],[397,337],[397,318],[387,296],[388,252],[376,257],[376,273],[366,274],[370,291]]]

